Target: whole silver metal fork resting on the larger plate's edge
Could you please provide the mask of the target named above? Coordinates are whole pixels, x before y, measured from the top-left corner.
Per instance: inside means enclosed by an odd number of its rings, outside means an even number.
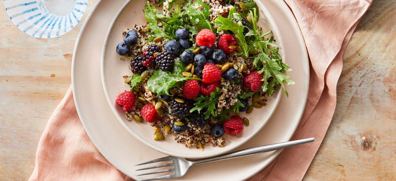
[[[287,141],[287,142],[283,142],[283,143],[274,143],[274,144],[270,144],[270,145],[252,147],[252,148],[243,149],[240,151],[234,151],[234,152],[230,152],[230,153],[225,153],[223,155],[213,156],[213,157],[209,157],[209,158],[202,158],[202,159],[193,160],[193,161],[189,161],[185,158],[178,158],[175,156],[166,156],[163,158],[158,158],[156,160],[151,160],[148,162],[137,164],[135,166],[170,160],[171,162],[167,163],[167,164],[150,166],[147,168],[141,168],[141,169],[137,169],[136,171],[147,170],[147,169],[152,169],[152,168],[161,168],[161,167],[166,167],[166,166],[173,166],[173,168],[170,168],[170,169],[160,170],[160,171],[156,171],[156,172],[143,173],[143,174],[137,175],[137,176],[141,176],[141,175],[150,175],[150,174],[156,174],[156,173],[173,172],[169,175],[155,177],[152,179],[144,179],[141,181],[171,179],[171,178],[182,177],[183,175],[186,174],[188,168],[190,168],[190,166],[193,166],[193,165],[203,164],[203,163],[208,163],[208,162],[215,162],[215,161],[219,161],[219,160],[226,160],[226,159],[230,159],[230,158],[237,158],[237,157],[253,155],[253,154],[257,154],[257,153],[265,153],[268,151],[283,149],[283,148],[291,147],[294,145],[301,145],[301,144],[309,143],[312,141],[314,141],[314,138],[307,138],[307,139],[295,140],[295,141]]]

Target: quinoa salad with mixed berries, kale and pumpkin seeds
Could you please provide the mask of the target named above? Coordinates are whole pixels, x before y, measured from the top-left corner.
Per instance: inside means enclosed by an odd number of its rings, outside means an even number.
[[[241,112],[265,106],[276,87],[288,96],[291,68],[253,0],[150,0],[143,13],[147,23],[128,25],[116,47],[131,61],[116,104],[150,123],[154,140],[224,147],[249,126]]]

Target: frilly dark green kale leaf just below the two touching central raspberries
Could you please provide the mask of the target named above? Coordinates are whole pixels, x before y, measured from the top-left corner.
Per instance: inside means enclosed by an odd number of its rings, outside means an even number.
[[[221,96],[220,89],[217,88],[216,91],[210,93],[210,96],[200,96],[195,98],[194,103],[195,107],[190,110],[190,113],[193,111],[200,111],[204,108],[208,108],[206,112],[204,112],[205,119],[208,119],[210,115],[213,117],[217,116],[217,107],[216,104],[219,103],[219,97]]]

